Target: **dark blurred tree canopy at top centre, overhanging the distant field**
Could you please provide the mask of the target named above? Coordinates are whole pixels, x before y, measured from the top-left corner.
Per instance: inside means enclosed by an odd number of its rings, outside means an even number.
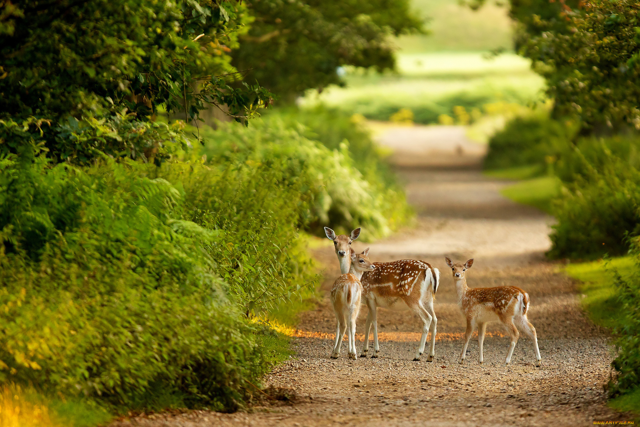
[[[422,28],[407,0],[248,0],[247,6],[253,22],[232,63],[245,81],[284,101],[343,84],[339,67],[393,69],[390,36]]]

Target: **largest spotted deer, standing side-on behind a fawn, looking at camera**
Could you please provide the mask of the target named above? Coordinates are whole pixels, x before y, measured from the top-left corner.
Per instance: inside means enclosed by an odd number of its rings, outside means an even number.
[[[324,232],[328,239],[335,245],[335,253],[340,262],[340,271],[346,273],[348,264],[342,261],[349,246],[360,236],[360,228],[355,229],[349,236],[341,234],[336,236],[335,232],[328,227],[324,227]],[[380,353],[378,343],[378,308],[390,310],[412,310],[422,321],[422,336],[420,344],[416,349],[414,361],[420,360],[424,353],[427,335],[431,331],[431,348],[427,362],[432,362],[435,357],[436,326],[438,318],[433,309],[436,291],[440,282],[440,271],[433,268],[431,264],[416,259],[402,259],[392,262],[374,262],[376,267],[373,271],[365,271],[360,282],[362,283],[363,297],[369,314],[365,322],[364,346],[360,357],[366,357],[369,351],[369,335],[373,326],[374,353],[372,359],[376,359]]]

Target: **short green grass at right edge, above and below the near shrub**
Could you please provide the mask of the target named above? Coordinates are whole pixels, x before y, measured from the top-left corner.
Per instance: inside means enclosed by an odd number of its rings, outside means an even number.
[[[616,295],[614,271],[627,278],[634,268],[636,264],[632,257],[618,257],[569,264],[564,272],[580,280],[578,289],[582,293],[582,307],[591,321],[596,325],[615,328],[622,326],[624,311]],[[640,389],[611,399],[608,405],[622,412],[632,411],[640,417]]]

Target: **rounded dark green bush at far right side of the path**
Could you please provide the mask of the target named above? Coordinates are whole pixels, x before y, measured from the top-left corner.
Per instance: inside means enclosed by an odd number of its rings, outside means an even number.
[[[490,138],[484,168],[538,165],[543,172],[547,159],[566,150],[576,131],[575,124],[553,120],[546,111],[515,117]]]

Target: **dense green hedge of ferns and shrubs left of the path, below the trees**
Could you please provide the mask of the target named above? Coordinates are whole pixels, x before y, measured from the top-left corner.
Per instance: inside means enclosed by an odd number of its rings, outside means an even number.
[[[298,230],[335,222],[380,236],[406,211],[395,184],[358,171],[348,140],[329,149],[278,115],[206,129],[204,147],[186,151],[180,131],[145,125],[151,138],[173,132],[159,165],[54,165],[25,143],[37,124],[0,125],[22,138],[0,159],[0,380],[118,408],[157,391],[190,407],[242,405],[273,362],[252,316],[314,284]]]

